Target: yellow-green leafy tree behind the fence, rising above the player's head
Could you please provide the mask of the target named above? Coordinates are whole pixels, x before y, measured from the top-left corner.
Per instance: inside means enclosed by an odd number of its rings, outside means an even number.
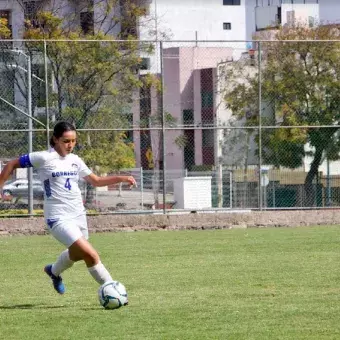
[[[18,2],[25,7],[24,2]],[[50,5],[43,2],[35,8],[35,13],[27,17],[24,38],[41,40],[25,43],[33,66],[41,65],[45,53],[43,40],[47,41],[48,77],[55,87],[54,91],[50,88],[50,112],[58,120],[71,121],[78,129],[128,128],[122,112],[129,112],[132,94],[141,86],[137,72],[142,62],[140,55],[152,51],[149,44],[133,41],[136,32],[131,28],[135,27],[136,20],[145,13],[145,8],[136,3],[132,0],[97,1],[94,15],[91,7],[93,2],[84,1],[81,4],[75,3],[75,11],[68,10],[65,17],[60,16],[63,2],[53,2]],[[87,18],[86,27],[79,26],[79,12],[82,9],[92,14],[92,17]],[[118,25],[121,26],[120,33],[114,36],[112,32]],[[122,36],[126,40],[117,42],[116,39]],[[51,39],[53,41],[49,41]],[[84,42],[82,39],[89,41]],[[26,73],[18,67],[21,66],[18,61],[15,66],[18,70],[15,72],[15,86],[22,98],[21,104],[16,99],[16,105],[26,109]],[[44,78],[44,74],[40,77]],[[39,100],[35,78],[32,85],[34,110]],[[92,136],[87,134],[85,139],[80,138],[81,143],[84,143],[80,145],[83,156],[89,164],[97,162],[101,170],[114,171],[119,165],[128,167],[134,164],[131,158],[133,148],[125,143],[124,133],[111,131],[97,135],[93,133]],[[89,145],[94,147],[95,152],[89,151]],[[100,147],[110,148],[111,152],[100,153]],[[117,152],[126,154],[126,159],[122,155],[118,157]],[[113,155],[116,159],[112,158]]]

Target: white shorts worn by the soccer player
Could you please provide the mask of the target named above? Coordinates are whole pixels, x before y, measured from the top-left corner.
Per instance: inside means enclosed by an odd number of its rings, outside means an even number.
[[[60,243],[67,248],[81,237],[89,238],[86,215],[80,215],[68,220],[57,221],[48,230]]]

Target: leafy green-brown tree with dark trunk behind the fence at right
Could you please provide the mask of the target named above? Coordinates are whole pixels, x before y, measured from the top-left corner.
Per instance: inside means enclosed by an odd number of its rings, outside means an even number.
[[[297,168],[305,156],[312,157],[305,179],[308,206],[314,204],[313,181],[323,157],[339,159],[339,38],[336,26],[309,28],[297,23],[280,28],[275,41],[261,42],[261,99],[273,108],[272,116],[264,115],[262,123],[292,126],[263,132],[263,160],[276,167]],[[251,108],[258,122],[258,94],[257,70],[246,84],[229,91],[225,99],[233,114],[244,117],[245,109]],[[261,111],[263,115],[263,107]],[[308,151],[306,144],[310,146]]]

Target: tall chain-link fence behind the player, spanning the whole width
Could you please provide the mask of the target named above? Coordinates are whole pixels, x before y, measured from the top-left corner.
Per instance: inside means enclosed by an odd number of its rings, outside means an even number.
[[[340,205],[337,41],[2,41],[0,168],[48,148],[138,187],[80,182],[89,212]],[[32,185],[31,185],[32,184]],[[35,170],[2,191],[3,214],[41,212]]]

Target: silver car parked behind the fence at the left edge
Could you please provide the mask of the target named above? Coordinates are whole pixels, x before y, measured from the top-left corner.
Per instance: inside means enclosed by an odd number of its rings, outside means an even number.
[[[3,198],[9,197],[28,197],[28,180],[17,179],[13,182],[6,182],[2,188]],[[42,199],[44,197],[44,188],[39,180],[33,180],[33,197]]]

